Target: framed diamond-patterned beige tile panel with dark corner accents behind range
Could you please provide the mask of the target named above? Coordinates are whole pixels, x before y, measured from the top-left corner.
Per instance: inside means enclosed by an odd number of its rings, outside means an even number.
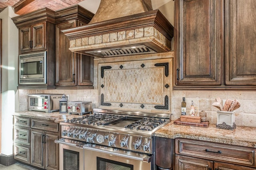
[[[100,63],[100,107],[170,113],[171,59]]]

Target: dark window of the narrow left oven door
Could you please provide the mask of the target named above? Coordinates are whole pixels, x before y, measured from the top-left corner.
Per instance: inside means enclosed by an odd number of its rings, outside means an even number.
[[[63,149],[63,169],[79,170],[79,152]]]

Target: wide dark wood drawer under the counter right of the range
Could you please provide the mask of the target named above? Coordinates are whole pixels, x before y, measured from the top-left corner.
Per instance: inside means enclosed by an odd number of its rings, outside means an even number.
[[[255,149],[244,146],[176,138],[175,153],[243,166],[255,166]]]

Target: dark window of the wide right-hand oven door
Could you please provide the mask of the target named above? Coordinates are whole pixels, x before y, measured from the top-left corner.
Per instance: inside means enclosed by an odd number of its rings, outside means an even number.
[[[97,157],[97,170],[133,170],[133,165]]]

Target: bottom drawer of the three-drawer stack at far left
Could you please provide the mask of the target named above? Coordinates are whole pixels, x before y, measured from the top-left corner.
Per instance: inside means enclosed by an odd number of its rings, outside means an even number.
[[[14,143],[14,159],[30,164],[30,146]]]

